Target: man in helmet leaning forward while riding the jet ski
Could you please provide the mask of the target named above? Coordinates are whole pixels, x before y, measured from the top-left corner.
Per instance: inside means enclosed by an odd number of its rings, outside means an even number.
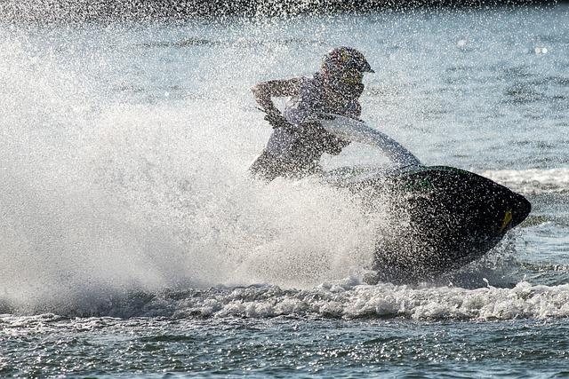
[[[349,142],[310,120],[322,113],[358,118],[364,73],[373,73],[364,54],[350,47],[338,47],[324,56],[320,72],[312,77],[272,80],[253,86],[255,100],[267,113],[265,120],[274,130],[267,147],[252,163],[252,173],[267,181],[279,176],[299,178],[320,170],[322,154],[340,154]],[[290,97],[282,114],[273,97]]]

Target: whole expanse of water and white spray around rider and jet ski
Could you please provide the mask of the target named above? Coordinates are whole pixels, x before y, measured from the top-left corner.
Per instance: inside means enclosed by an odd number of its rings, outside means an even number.
[[[0,375],[568,375],[567,20],[3,26]],[[345,193],[246,178],[249,87],[339,44],[377,72],[366,122],[533,202],[482,262],[362,285],[374,224]]]

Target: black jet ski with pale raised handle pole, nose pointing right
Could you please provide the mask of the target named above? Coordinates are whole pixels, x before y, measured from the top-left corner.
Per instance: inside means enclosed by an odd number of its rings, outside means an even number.
[[[484,256],[530,213],[521,194],[467,170],[422,165],[364,122],[336,114],[315,121],[338,138],[380,149],[391,161],[389,168],[356,165],[323,175],[354,193],[370,215],[385,218],[371,267],[377,280],[417,282],[458,269]]]

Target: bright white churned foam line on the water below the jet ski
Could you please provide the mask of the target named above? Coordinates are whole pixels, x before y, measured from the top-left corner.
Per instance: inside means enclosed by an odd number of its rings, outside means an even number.
[[[200,304],[186,299],[176,315],[204,317],[273,317],[280,315],[333,318],[393,318],[413,320],[512,320],[569,315],[569,286],[515,288],[408,288],[344,282],[323,284],[309,291],[279,288],[236,288],[219,291]],[[193,303],[193,304],[192,304]]]

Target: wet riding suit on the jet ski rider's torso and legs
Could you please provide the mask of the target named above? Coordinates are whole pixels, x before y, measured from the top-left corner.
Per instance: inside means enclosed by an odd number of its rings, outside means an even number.
[[[276,177],[302,177],[317,173],[324,153],[340,154],[349,144],[324,130],[318,122],[309,122],[320,113],[341,114],[357,118],[361,106],[357,99],[331,104],[325,98],[322,75],[301,78],[298,96],[290,99],[284,108],[289,125],[276,126],[268,138],[267,147],[252,163],[250,170],[270,181]]]

